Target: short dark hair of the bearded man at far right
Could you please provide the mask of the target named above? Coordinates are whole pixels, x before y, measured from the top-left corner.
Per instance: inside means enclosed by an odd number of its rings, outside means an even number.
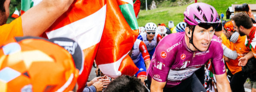
[[[234,20],[237,27],[243,26],[246,29],[250,29],[253,26],[251,18],[245,12],[235,14],[231,20]]]

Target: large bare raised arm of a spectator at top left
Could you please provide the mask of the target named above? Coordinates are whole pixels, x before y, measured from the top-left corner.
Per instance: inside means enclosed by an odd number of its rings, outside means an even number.
[[[52,23],[68,10],[74,0],[43,0],[26,11],[22,17],[24,36],[40,36]]]

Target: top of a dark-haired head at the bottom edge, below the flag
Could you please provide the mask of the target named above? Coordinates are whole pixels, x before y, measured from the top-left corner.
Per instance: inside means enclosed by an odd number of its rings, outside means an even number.
[[[104,92],[146,92],[146,89],[139,78],[122,75],[111,81]]]

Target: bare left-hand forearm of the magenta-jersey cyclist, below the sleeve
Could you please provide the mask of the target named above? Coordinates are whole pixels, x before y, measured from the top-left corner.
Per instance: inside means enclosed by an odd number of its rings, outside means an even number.
[[[154,84],[154,85],[152,85]],[[158,82],[152,78],[151,80],[151,92],[163,92],[163,88],[165,86],[166,82]]]

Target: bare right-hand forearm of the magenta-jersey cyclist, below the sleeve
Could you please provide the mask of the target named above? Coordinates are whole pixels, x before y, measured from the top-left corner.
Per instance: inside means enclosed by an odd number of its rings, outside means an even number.
[[[218,92],[231,92],[226,73],[215,75]]]

